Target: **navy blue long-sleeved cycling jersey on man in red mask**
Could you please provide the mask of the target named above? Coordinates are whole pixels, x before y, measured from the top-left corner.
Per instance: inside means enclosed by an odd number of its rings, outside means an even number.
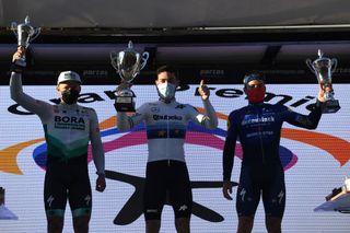
[[[271,165],[281,166],[279,147],[283,121],[298,127],[315,129],[320,116],[322,109],[318,101],[307,116],[295,113],[283,105],[265,103],[249,104],[232,112],[228,120],[228,137],[223,151],[224,180],[231,178],[237,139],[243,149],[242,166],[252,166],[259,171]]]

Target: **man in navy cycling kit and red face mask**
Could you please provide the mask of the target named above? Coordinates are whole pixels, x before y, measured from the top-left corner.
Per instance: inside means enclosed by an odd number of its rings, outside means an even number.
[[[280,161],[279,147],[283,121],[293,126],[315,129],[322,116],[324,90],[312,112],[301,115],[279,104],[265,104],[264,77],[253,72],[245,75],[244,92],[249,104],[229,115],[228,136],[223,150],[223,196],[232,200],[231,173],[236,140],[243,149],[240,185],[236,195],[238,233],[252,232],[254,217],[260,197],[269,233],[281,232],[285,207],[284,171]]]

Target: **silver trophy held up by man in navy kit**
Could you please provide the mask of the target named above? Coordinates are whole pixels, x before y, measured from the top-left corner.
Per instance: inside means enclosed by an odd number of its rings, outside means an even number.
[[[338,60],[336,58],[324,57],[324,54],[318,49],[318,58],[312,61],[306,59],[306,65],[311,71],[317,77],[318,83],[325,89],[325,107],[323,113],[336,113],[340,109],[339,101],[335,100],[331,86],[331,74],[335,72]]]

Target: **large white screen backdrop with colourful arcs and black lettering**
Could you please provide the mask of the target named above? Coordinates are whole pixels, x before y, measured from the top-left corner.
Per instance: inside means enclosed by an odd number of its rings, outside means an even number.
[[[235,200],[223,198],[222,148],[226,132],[226,117],[231,110],[247,104],[242,85],[209,85],[219,127],[198,131],[190,125],[185,151],[194,185],[192,232],[233,232],[237,225]],[[196,85],[177,92],[177,101],[202,108]],[[316,130],[283,125],[281,159],[285,170],[287,208],[283,232],[349,232],[350,215],[338,212],[314,212],[332,188],[342,185],[350,174],[348,163],[350,139],[350,84],[335,84],[341,104],[337,114],[323,115]],[[140,198],[148,156],[144,127],[132,132],[119,132],[115,125],[112,85],[83,86],[80,104],[96,109],[106,155],[107,188],[93,190],[91,232],[143,232]],[[158,100],[154,85],[136,85],[137,106]],[[50,102],[57,97],[55,86],[24,86],[30,95]],[[308,114],[315,102],[317,84],[270,84],[268,103],[283,102],[291,109]],[[273,96],[276,94],[276,96]],[[278,96],[281,95],[281,96]],[[10,98],[9,88],[0,86],[0,186],[5,188],[5,206],[19,220],[0,220],[1,232],[45,232],[46,218],[43,200],[45,171],[39,155],[45,153],[42,124]],[[232,180],[237,180],[241,152],[236,151]],[[90,178],[94,187],[96,175],[90,162]],[[162,174],[160,174],[162,175]],[[236,188],[233,190],[235,198]],[[260,202],[253,232],[266,232]],[[63,232],[73,232],[69,207]],[[165,206],[161,232],[175,232],[174,214]]]

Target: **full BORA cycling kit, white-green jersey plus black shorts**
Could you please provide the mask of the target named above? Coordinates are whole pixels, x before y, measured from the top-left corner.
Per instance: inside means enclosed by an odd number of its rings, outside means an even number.
[[[63,217],[69,198],[73,217],[91,214],[91,184],[88,145],[91,140],[94,163],[104,174],[104,151],[94,109],[77,104],[50,105],[23,93],[20,73],[12,72],[11,97],[39,116],[47,142],[44,201],[47,217]]]

